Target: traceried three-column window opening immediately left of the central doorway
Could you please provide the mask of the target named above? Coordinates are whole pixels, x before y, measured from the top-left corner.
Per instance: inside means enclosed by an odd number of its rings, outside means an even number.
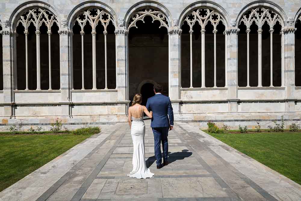
[[[116,53],[113,17],[95,7],[82,10],[76,15],[72,31],[73,88],[115,89]]]

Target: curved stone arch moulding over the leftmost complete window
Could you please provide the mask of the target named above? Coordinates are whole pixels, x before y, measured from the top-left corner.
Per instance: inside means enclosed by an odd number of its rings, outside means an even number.
[[[50,4],[40,1],[29,1],[19,5],[11,14],[9,18],[9,24],[12,25],[12,30],[15,30],[17,23],[19,22],[20,16],[24,13],[25,10],[30,10],[32,8],[41,8],[50,11],[57,18],[57,26],[61,28],[61,19],[57,13],[57,10],[52,7]]]

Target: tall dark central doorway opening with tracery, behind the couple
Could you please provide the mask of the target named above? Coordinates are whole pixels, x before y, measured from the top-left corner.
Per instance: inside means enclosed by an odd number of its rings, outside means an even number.
[[[129,99],[142,94],[142,104],[153,96],[158,83],[163,94],[169,90],[169,35],[168,20],[153,8],[143,8],[134,14],[128,23],[129,46]],[[145,82],[152,80],[152,82]],[[141,84],[143,83],[143,84]]]

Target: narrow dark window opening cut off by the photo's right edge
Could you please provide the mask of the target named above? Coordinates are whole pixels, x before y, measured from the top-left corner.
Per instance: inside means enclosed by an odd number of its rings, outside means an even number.
[[[296,21],[295,28],[295,85],[301,86],[301,15]]]

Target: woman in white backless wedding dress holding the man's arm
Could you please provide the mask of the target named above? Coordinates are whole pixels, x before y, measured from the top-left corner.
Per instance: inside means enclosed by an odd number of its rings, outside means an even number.
[[[140,93],[136,94],[132,102],[132,106],[129,107],[129,125],[131,128],[131,136],[133,140],[133,170],[128,174],[129,177],[151,178],[155,174],[151,173],[150,169],[146,168],[145,163],[145,150],[144,150],[144,135],[145,124],[143,121],[143,112],[149,117],[153,118],[153,112],[148,112],[147,108],[140,105],[142,102],[142,96]],[[133,120],[133,122],[131,121]]]

